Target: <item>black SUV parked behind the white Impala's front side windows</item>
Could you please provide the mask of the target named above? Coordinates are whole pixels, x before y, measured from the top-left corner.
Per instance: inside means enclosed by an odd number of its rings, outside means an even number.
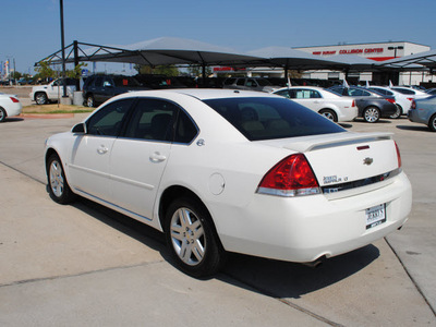
[[[83,85],[84,105],[95,107],[111,97],[130,90],[149,89],[132,76],[123,75],[92,75]]]

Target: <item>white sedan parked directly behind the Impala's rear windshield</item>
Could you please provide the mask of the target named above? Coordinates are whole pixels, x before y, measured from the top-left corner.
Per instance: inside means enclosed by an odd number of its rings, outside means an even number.
[[[280,88],[274,94],[289,98],[335,122],[352,121],[359,114],[354,99],[341,97],[322,87],[291,86]]]

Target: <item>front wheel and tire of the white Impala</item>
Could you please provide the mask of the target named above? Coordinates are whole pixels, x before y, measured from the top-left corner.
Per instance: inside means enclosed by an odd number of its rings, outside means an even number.
[[[75,199],[75,194],[68,184],[62,161],[53,154],[47,161],[47,182],[50,197],[60,204],[69,204]]]

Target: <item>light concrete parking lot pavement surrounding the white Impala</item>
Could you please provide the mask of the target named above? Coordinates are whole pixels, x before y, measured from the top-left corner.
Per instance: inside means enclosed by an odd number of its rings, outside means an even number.
[[[413,186],[402,230],[317,268],[234,254],[196,280],[172,266],[160,233],[49,198],[44,141],[84,117],[0,124],[1,326],[436,326],[436,134],[425,125],[342,124],[395,133]]]

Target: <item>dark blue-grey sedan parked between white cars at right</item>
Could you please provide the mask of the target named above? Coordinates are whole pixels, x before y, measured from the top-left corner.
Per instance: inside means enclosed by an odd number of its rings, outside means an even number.
[[[355,105],[359,108],[359,117],[362,117],[366,122],[375,123],[380,117],[390,118],[395,116],[399,107],[395,102],[393,97],[384,96],[379,93],[368,90],[366,88],[342,85],[331,86],[328,89],[341,95],[349,96],[355,99]]]

